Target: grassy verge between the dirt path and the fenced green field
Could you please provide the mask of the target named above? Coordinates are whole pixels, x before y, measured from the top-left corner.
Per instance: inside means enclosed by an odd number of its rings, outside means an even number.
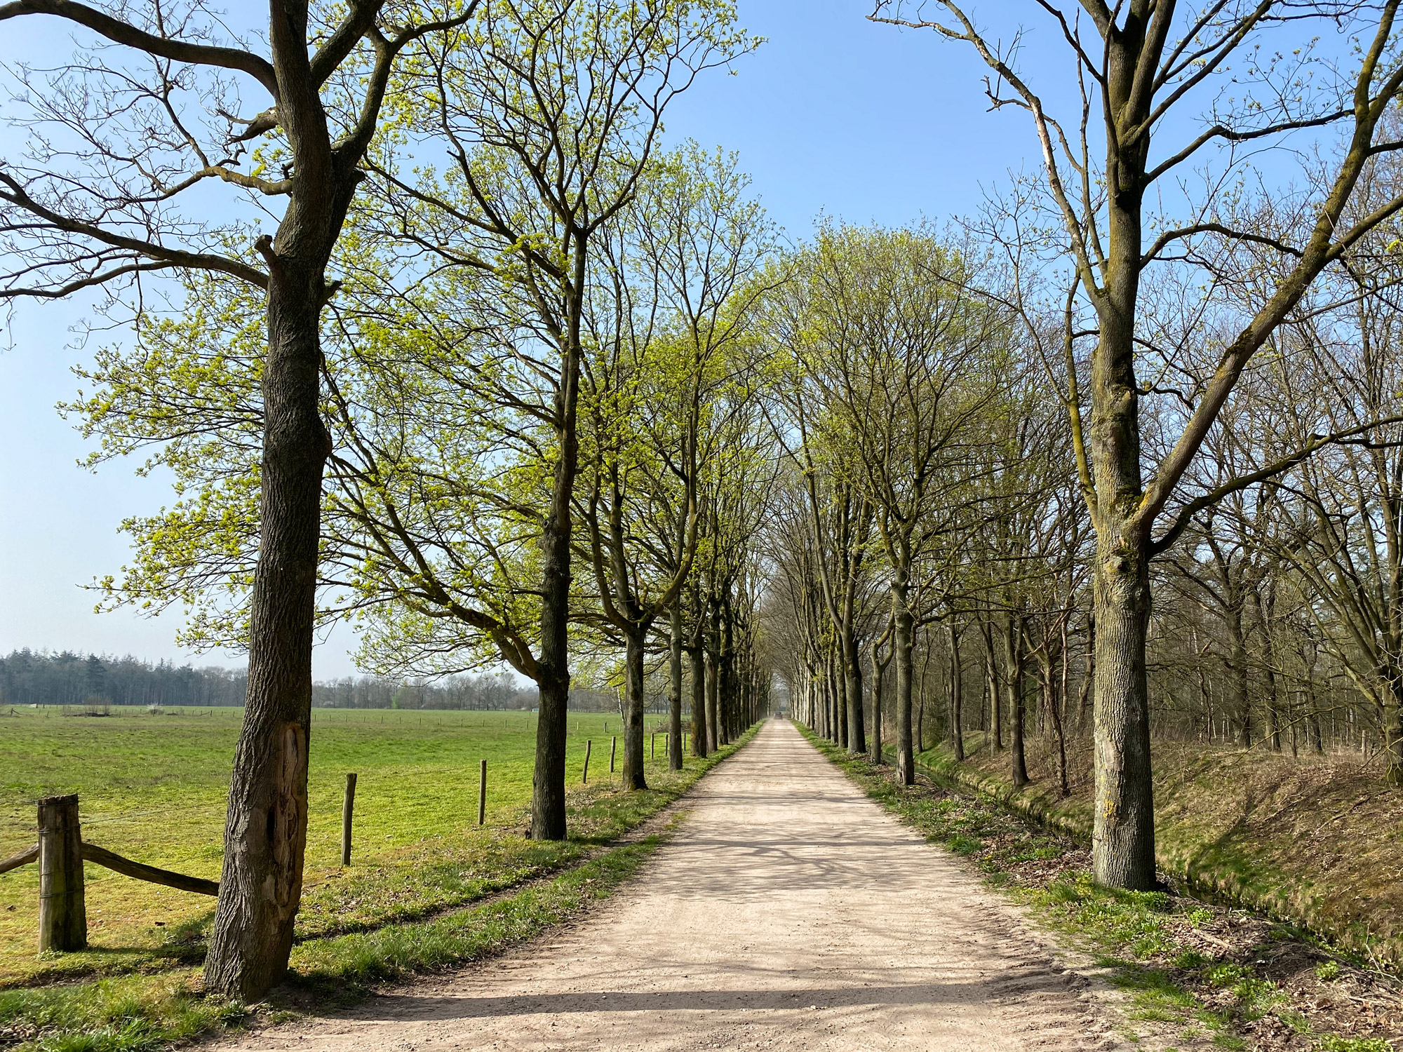
[[[578,916],[637,872],[664,836],[617,847],[600,844],[675,801],[752,735],[748,732],[706,760],[689,757],[680,773],[650,771],[654,787],[647,793],[624,793],[617,785],[588,795],[572,793],[571,837],[560,844],[498,830],[494,842],[505,853],[499,857],[525,858],[528,864],[494,872],[485,868],[491,856],[477,857],[481,868],[466,875],[462,886],[471,886],[477,898],[498,891],[485,902],[436,912],[421,902],[387,913],[380,923],[348,920],[340,927],[323,926],[318,934],[309,934],[299,923],[288,985],[264,1010],[349,1003],[377,982],[481,959]],[[445,858],[445,865],[449,861]],[[462,860],[457,864],[464,865]],[[543,872],[550,879],[542,879]],[[424,885],[432,885],[432,879],[425,878]],[[456,893],[445,892],[445,898],[450,901]],[[407,915],[415,919],[405,920]],[[189,947],[184,958],[146,957],[135,973],[0,990],[0,1049],[145,1052],[247,1020],[247,1009],[208,996],[201,987],[196,964],[203,957],[203,930],[189,926],[181,936]]]

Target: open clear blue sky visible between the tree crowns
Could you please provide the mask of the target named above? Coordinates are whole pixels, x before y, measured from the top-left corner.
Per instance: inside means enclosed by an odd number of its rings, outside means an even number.
[[[739,151],[791,237],[804,237],[821,213],[898,224],[968,212],[981,185],[1037,163],[1023,114],[985,112],[982,69],[965,48],[870,24],[866,0],[739,0],[739,10],[767,42],[735,76],[699,81],[671,112],[668,137]],[[67,55],[69,35],[56,22],[24,21],[24,46],[13,50],[20,38],[11,36],[0,58]],[[164,481],[121,464],[97,474],[76,467],[86,445],[53,405],[77,389],[69,366],[84,355],[70,328],[81,314],[81,304],[21,304],[14,345],[0,351],[0,652],[241,663],[180,651],[178,614],[94,614],[80,588],[128,558],[116,532],[123,516],[173,499]],[[347,630],[333,633],[316,651],[316,677],[354,673],[349,648]]]

